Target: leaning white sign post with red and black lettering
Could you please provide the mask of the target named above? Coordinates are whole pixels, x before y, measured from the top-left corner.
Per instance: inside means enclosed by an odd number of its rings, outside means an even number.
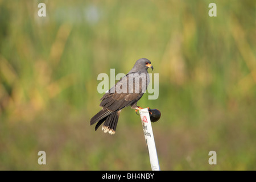
[[[153,135],[148,109],[145,108],[139,110],[139,114],[141,115],[141,122],[144,131],[144,137],[147,144],[148,155],[150,157],[151,169],[152,171],[160,171],[158,154],[156,153],[155,139]]]

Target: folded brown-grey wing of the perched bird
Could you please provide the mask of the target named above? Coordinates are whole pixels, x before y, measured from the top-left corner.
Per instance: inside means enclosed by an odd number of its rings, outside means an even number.
[[[130,82],[129,82],[130,80]],[[148,75],[131,75],[122,77],[108,93],[101,98],[103,110],[118,111],[138,101],[146,91]]]

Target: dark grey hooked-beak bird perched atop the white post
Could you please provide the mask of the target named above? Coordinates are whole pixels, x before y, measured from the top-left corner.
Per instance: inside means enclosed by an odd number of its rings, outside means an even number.
[[[119,114],[124,107],[131,106],[136,112],[143,109],[137,106],[137,102],[143,96],[150,81],[148,68],[154,69],[150,60],[146,58],[137,60],[131,71],[104,94],[100,104],[102,110],[90,119],[90,125],[98,122],[95,130],[104,122],[102,126],[104,133],[114,134]]]

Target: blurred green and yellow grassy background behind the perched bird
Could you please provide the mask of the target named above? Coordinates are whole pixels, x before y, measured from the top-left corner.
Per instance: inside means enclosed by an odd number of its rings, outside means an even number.
[[[254,1],[45,1],[44,18],[39,2],[0,1],[0,169],[150,170],[133,110],[114,136],[89,126],[98,74],[141,57],[159,73],[138,104],[162,112],[161,169],[256,169]]]

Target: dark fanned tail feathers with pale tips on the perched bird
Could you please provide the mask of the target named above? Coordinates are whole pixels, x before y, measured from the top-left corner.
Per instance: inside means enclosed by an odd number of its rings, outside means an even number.
[[[94,115],[92,119],[90,119],[90,125],[93,125],[94,123],[98,122],[95,127],[95,130],[97,130],[98,127],[105,121],[102,126],[102,131],[104,131],[104,133],[108,132],[109,134],[113,135],[115,134],[115,129],[117,128],[117,122],[120,112],[121,110],[115,113],[101,110],[96,115]]]

